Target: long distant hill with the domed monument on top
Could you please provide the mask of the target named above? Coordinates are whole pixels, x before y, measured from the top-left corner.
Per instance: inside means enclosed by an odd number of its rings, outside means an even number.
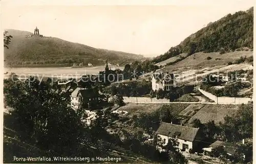
[[[142,55],[96,49],[91,46],[73,43],[55,37],[26,38],[32,33],[6,29],[11,35],[9,49],[5,48],[6,66],[71,66],[73,63],[93,65],[111,64],[124,65],[135,60],[144,60]]]

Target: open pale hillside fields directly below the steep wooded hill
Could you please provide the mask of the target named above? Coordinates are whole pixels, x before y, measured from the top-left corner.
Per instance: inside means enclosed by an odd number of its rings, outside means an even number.
[[[219,53],[196,53],[174,65],[167,65],[156,72],[169,72],[174,73],[176,76],[177,84],[198,84],[197,80],[210,73],[227,73],[238,71],[240,69],[250,69],[249,63],[227,65],[227,62],[234,61],[241,56],[252,56],[252,51],[238,51],[226,54]],[[195,56],[195,57],[194,57]],[[207,60],[206,57],[210,56],[212,59]],[[174,58],[174,57],[172,57]],[[195,58],[195,59],[194,59]],[[218,60],[215,60],[215,59]],[[171,60],[171,58],[169,58]],[[169,60],[165,60],[166,62]],[[173,60],[173,59],[172,59]],[[162,61],[163,63],[165,61]],[[144,78],[151,77],[153,72],[143,75]]]

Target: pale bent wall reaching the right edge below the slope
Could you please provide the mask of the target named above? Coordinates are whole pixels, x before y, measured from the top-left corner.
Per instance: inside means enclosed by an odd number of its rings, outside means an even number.
[[[235,98],[235,97],[217,97],[215,95],[212,95],[211,93],[198,89],[204,96],[207,98],[213,100],[217,104],[248,104],[248,102],[252,101],[251,98]]]

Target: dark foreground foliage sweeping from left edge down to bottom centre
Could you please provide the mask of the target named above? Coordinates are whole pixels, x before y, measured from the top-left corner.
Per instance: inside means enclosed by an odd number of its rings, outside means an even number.
[[[117,150],[130,151],[152,161],[172,160],[177,164],[184,161],[184,157],[172,147],[169,147],[168,154],[162,154],[154,144],[143,143],[141,133],[134,137],[125,135],[124,140],[120,134],[109,134],[106,128],[116,120],[110,109],[98,110],[98,118],[92,120],[91,125],[85,124],[81,121],[86,118],[84,109],[81,107],[75,112],[69,106],[69,96],[52,91],[47,82],[32,77],[25,82],[7,79],[4,81],[4,95],[7,106],[13,108],[12,115],[18,121],[15,124],[15,130],[19,131],[17,137],[52,156],[95,157]],[[18,150],[12,151],[16,153]]]

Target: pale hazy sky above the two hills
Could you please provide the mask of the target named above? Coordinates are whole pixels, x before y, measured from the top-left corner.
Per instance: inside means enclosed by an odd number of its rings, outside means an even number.
[[[209,22],[254,5],[253,0],[173,1],[167,6],[13,2],[2,3],[2,29],[34,32],[37,26],[45,36],[145,56],[163,54]]]

